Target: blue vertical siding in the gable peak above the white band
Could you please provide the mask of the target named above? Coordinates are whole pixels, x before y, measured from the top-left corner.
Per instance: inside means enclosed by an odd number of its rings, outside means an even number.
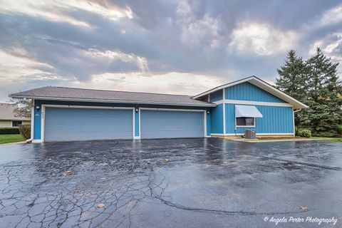
[[[286,103],[284,100],[271,93],[245,82],[228,88],[224,88],[224,97],[227,100],[252,100],[263,102]]]

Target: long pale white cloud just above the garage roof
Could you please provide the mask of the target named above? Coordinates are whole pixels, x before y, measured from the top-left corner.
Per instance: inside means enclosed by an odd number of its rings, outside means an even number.
[[[196,73],[103,73],[92,76],[90,81],[71,83],[78,88],[98,88],[149,93],[173,93],[195,95],[223,84],[221,78]]]

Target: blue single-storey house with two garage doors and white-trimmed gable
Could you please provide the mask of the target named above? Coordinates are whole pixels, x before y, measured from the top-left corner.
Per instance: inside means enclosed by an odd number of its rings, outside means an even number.
[[[294,110],[308,108],[252,76],[195,96],[43,87],[33,100],[33,142],[103,139],[294,136]]]

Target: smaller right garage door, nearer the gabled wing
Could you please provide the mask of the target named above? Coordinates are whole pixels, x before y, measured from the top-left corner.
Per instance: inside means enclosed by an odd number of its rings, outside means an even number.
[[[204,137],[203,112],[141,110],[141,138]]]

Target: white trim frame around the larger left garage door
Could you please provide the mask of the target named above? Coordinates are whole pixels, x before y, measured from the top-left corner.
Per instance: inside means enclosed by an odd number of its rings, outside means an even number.
[[[103,107],[103,106],[85,106],[85,105],[41,105],[41,140],[36,142],[45,142],[45,108],[80,108],[80,109],[112,109],[112,110],[132,110],[133,113],[133,135],[135,135],[135,108],[134,107]]]

